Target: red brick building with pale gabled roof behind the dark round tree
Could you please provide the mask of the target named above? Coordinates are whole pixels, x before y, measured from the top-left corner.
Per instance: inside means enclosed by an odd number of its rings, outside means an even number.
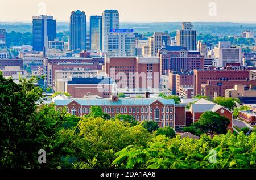
[[[216,112],[228,118],[230,121],[228,129],[233,132],[233,113],[221,105],[204,99],[200,99],[199,101],[195,102],[195,104],[192,104],[189,111],[186,112],[186,118],[188,123],[187,125],[190,125],[193,122],[197,122],[200,119],[201,115],[207,111]]]

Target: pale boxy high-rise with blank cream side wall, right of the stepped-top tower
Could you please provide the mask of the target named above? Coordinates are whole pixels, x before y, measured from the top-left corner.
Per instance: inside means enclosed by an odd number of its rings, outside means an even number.
[[[214,57],[218,62],[218,67],[225,67],[227,63],[242,65],[242,49],[232,47],[228,41],[218,42],[218,47],[214,48]]]

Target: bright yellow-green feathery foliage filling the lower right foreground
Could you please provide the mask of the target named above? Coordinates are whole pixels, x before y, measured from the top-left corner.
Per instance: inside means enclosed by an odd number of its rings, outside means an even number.
[[[180,135],[168,139],[159,135],[146,146],[130,145],[117,152],[113,165],[136,169],[255,168],[255,144],[255,132],[236,136],[229,131],[214,138],[202,135],[200,139],[181,139]]]

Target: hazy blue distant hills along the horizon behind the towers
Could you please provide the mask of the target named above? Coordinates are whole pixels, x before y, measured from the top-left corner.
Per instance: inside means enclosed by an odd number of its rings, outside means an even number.
[[[197,33],[221,36],[241,35],[242,31],[251,30],[256,32],[256,23],[232,23],[232,22],[192,22]],[[89,29],[89,23],[87,23]],[[134,28],[135,32],[173,32],[181,28],[181,22],[120,22],[120,28]],[[0,29],[7,32],[32,32],[32,23],[23,22],[0,22]],[[68,22],[57,22],[57,32],[69,31]]]

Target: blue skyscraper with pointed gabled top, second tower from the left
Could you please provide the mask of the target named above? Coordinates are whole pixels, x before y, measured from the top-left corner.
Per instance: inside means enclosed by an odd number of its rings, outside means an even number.
[[[69,30],[69,49],[86,50],[86,15],[84,11],[72,11]]]

